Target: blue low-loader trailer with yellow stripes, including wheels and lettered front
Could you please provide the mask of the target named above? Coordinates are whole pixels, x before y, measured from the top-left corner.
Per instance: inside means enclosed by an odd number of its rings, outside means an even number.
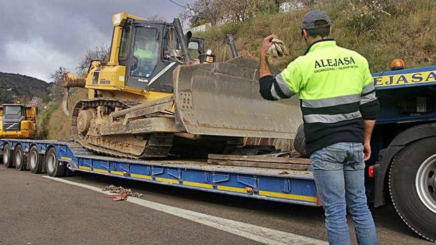
[[[376,207],[392,201],[404,222],[436,241],[436,66],[375,73],[381,103],[366,162],[366,187]],[[208,164],[204,159],[132,160],[97,155],[72,141],[1,139],[5,167],[71,171],[228,195],[321,206],[307,170]]]

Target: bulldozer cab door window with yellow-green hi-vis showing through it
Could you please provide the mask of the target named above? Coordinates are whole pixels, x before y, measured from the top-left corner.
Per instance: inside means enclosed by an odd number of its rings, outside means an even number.
[[[159,40],[157,30],[137,27],[133,46],[135,62],[130,67],[130,75],[135,77],[151,77],[158,62],[158,54]]]

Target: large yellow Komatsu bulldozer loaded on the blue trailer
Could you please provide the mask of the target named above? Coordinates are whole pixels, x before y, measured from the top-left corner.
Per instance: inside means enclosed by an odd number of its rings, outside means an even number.
[[[64,75],[65,113],[68,90],[88,90],[71,115],[83,147],[128,158],[201,157],[231,153],[244,137],[295,136],[298,99],[263,100],[258,59],[234,54],[217,62],[177,18],[156,22],[120,12],[112,24],[109,61],[92,61],[84,77]]]

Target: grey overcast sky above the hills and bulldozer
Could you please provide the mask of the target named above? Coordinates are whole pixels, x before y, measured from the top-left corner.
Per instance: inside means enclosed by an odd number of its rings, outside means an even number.
[[[0,71],[48,82],[59,66],[75,71],[87,49],[110,44],[113,13],[171,21],[181,10],[169,0],[0,0]]]

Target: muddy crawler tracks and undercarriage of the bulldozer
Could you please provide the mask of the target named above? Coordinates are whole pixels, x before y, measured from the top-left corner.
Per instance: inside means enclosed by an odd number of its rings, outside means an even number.
[[[86,99],[73,109],[74,139],[95,152],[127,158],[229,153],[242,138],[194,136],[175,127],[172,97],[139,104],[117,98]]]

